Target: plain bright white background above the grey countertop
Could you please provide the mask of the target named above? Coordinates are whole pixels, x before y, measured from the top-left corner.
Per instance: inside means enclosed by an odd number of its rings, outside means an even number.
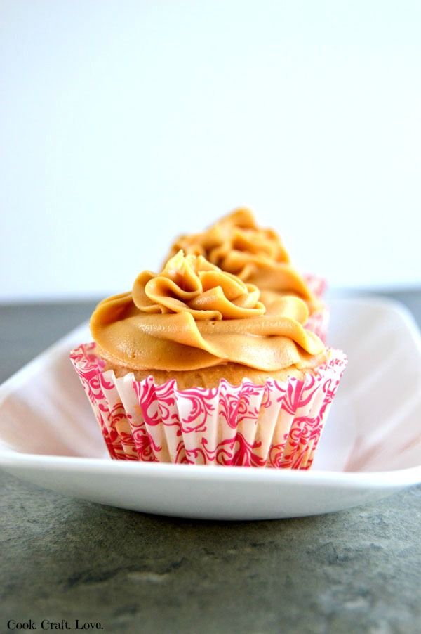
[[[98,296],[238,205],[421,283],[421,3],[0,3],[0,299]]]

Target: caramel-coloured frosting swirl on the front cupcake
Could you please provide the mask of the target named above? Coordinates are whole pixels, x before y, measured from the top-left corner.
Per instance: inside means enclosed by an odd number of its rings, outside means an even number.
[[[90,325],[99,353],[128,369],[239,363],[271,372],[312,367],[323,354],[307,318],[299,297],[279,297],[265,311],[253,284],[178,252],[161,273],[143,271],[131,292],[100,302]]]

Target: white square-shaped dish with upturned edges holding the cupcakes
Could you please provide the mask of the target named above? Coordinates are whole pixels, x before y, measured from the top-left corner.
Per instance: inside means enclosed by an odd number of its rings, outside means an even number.
[[[349,357],[310,471],[109,460],[69,350],[87,325],[0,387],[0,466],[76,498],[208,519],[341,510],[421,482],[421,343],[410,313],[377,298],[330,304]]]

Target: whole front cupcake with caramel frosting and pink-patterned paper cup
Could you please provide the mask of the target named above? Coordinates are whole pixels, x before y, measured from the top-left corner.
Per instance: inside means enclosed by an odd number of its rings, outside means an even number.
[[[307,320],[180,250],[100,302],[70,358],[114,459],[308,469],[346,357]]]

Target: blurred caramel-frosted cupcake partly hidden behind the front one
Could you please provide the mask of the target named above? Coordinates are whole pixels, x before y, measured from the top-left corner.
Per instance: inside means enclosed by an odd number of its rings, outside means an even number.
[[[202,255],[223,271],[255,284],[267,306],[279,295],[297,295],[309,309],[306,327],[326,341],[328,309],[321,299],[326,283],[316,276],[300,275],[276,231],[259,227],[249,209],[236,209],[201,233],[180,235],[170,257],[180,249]]]

